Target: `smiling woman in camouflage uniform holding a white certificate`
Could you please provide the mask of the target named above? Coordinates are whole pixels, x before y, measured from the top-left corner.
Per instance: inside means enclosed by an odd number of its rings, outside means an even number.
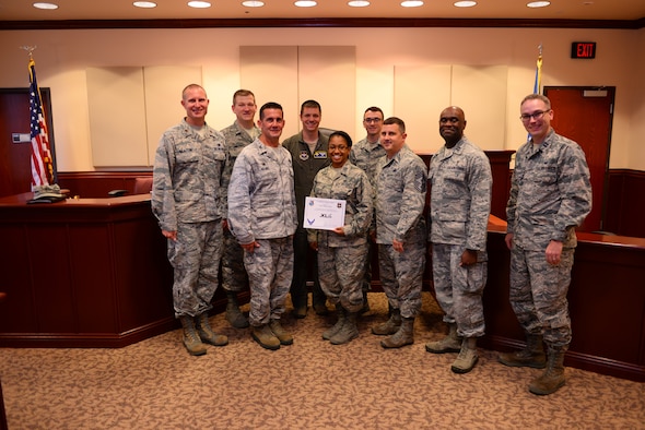
[[[367,228],[373,215],[372,186],[365,172],[348,162],[351,147],[352,140],[344,131],[330,134],[331,165],[316,175],[310,194],[314,199],[307,200],[307,205],[325,205],[329,203],[326,200],[344,201],[344,219],[333,216],[339,219],[336,226],[317,225],[314,219],[304,223],[305,227],[312,226],[307,239],[318,251],[320,286],[338,314],[337,323],[322,333],[322,338],[333,345],[347,344],[359,336],[356,315],[363,309],[361,287],[368,247]],[[336,206],[341,207],[342,202]]]

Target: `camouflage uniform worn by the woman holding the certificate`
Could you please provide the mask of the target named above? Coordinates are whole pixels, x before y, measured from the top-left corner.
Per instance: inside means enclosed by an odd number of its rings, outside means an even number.
[[[367,255],[366,232],[373,213],[373,192],[363,170],[345,163],[328,166],[314,179],[312,196],[344,200],[344,236],[329,230],[308,230],[309,242],[318,242],[320,286],[332,304],[350,312],[363,308],[361,284]]]

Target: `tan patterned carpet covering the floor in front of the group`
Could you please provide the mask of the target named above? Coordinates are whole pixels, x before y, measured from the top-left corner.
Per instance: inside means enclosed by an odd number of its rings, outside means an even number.
[[[384,321],[383,294],[361,336],[333,346],[320,333],[332,318],[284,319],[294,345],[260,348],[247,330],[190,357],[176,330],[119,349],[0,348],[9,428],[20,429],[645,429],[645,384],[566,369],[550,396],[528,392],[541,371],[507,368],[480,349],[467,374],[456,355],[425,353],[443,336],[424,292],[415,343],[384,350],[370,327]]]

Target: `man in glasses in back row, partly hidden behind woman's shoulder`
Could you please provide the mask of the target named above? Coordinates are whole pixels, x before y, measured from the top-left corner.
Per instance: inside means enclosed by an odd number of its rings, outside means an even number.
[[[360,167],[370,179],[372,189],[376,186],[376,162],[385,156],[385,150],[380,145],[380,129],[384,119],[383,110],[379,107],[372,106],[365,109],[363,114],[363,127],[367,132],[365,139],[356,142],[350,152],[350,163]],[[368,240],[370,249],[365,259],[365,275],[363,277],[363,310],[361,313],[370,311],[367,301],[367,291],[372,289],[372,255],[376,249],[376,231],[373,226],[370,228]]]

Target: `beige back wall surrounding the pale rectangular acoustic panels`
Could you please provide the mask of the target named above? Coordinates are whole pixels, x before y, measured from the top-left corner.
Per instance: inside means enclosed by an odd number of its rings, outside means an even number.
[[[516,150],[526,139],[518,103],[532,91],[537,47],[544,47],[543,85],[617,86],[611,168],[645,170],[645,29],[539,28],[200,28],[15,31],[0,38],[0,87],[25,87],[27,56],[20,46],[37,46],[34,58],[40,86],[51,88],[59,171],[93,170],[85,69],[116,65],[194,65],[211,106],[208,121],[220,129],[233,122],[231,95],[239,87],[239,46],[356,47],[356,116],[361,130],[365,107],[394,111],[395,68],[426,64],[507,65],[505,142],[486,150]],[[571,41],[595,40],[595,60],[570,59]],[[280,76],[267,76],[280,85]],[[180,98],[177,88],[177,104]],[[251,88],[253,89],[253,88]],[[478,82],[472,83],[478,92]],[[343,94],[338,94],[343,97]],[[433,97],[409,100],[423,111]],[[258,100],[261,104],[267,100]],[[277,100],[280,101],[280,100]],[[453,100],[459,104],[458,100]],[[298,106],[284,106],[285,110]],[[286,114],[286,112],[285,112]],[[468,116],[468,112],[466,112]],[[410,135],[418,152],[434,152],[442,141],[438,111],[427,112],[426,135]],[[404,118],[403,118],[404,119]],[[177,121],[179,118],[177,118]],[[168,127],[172,124],[168,124]],[[322,123],[325,126],[325,123]],[[467,132],[469,130],[467,129]],[[477,142],[477,134],[469,136]],[[418,133],[417,133],[418,134]],[[483,145],[482,145],[483,146]]]

